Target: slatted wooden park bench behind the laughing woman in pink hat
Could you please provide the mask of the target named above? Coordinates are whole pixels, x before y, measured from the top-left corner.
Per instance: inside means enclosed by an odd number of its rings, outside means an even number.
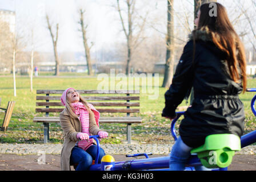
[[[49,113],[61,113],[61,111],[64,109],[64,106],[60,101],[63,92],[64,90],[37,90],[37,107],[35,108],[35,112],[45,113],[45,116],[34,117],[33,122],[43,123],[44,143],[47,143],[47,140],[49,140],[50,137],[49,123],[59,122],[59,116],[50,116]],[[139,101],[139,90],[78,90],[78,92],[83,98],[85,98],[87,102],[92,104],[95,109],[99,111],[99,113],[125,113],[125,116],[122,117],[102,117],[101,114],[99,123],[126,123],[126,137],[128,143],[131,143],[131,124],[142,122],[141,117],[130,115],[130,113],[139,113],[139,102],[130,102]],[[130,94],[135,94],[135,96],[130,96]]]

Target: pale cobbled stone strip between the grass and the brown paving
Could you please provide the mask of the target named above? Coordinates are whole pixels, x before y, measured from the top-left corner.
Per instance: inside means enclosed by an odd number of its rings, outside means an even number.
[[[152,152],[168,155],[173,144],[101,144],[106,154],[137,154]],[[0,154],[28,155],[39,153],[61,154],[62,144],[6,144],[0,143]],[[256,146],[242,148],[236,154],[256,155]]]

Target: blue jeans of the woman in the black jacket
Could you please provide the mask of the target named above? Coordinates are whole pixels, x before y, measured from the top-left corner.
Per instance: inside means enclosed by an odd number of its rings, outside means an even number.
[[[179,137],[177,141],[175,142],[173,148],[171,149],[170,154],[170,170],[171,171],[184,171],[185,170],[185,164],[187,164],[188,159],[190,157],[190,151],[192,150],[192,147],[187,146]],[[198,166],[195,167],[195,170],[198,171],[209,171],[211,169],[206,168],[204,166]]]

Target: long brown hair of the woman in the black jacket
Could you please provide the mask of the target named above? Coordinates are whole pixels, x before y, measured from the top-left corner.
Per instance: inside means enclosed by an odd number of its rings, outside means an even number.
[[[227,67],[231,78],[239,82],[242,77],[244,93],[247,82],[245,48],[229,20],[225,7],[220,3],[215,3],[215,5],[217,5],[217,16],[210,15],[213,8],[210,3],[201,5],[197,30],[203,27],[209,28],[213,43],[227,55]],[[239,74],[238,67],[241,69],[241,74]]]

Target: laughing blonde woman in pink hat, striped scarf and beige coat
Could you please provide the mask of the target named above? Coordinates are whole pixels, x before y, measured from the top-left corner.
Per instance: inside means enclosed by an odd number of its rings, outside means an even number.
[[[70,164],[78,164],[77,171],[89,169],[96,158],[97,146],[89,135],[99,135],[106,138],[108,134],[99,130],[99,112],[88,104],[73,88],[66,89],[61,102],[65,106],[59,114],[64,132],[64,143],[61,151],[61,169],[70,171]],[[102,148],[99,151],[99,162],[105,155]]]

